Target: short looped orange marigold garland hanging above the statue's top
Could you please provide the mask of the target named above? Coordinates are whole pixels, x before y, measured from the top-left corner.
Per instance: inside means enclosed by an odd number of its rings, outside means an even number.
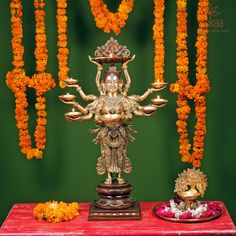
[[[113,13],[108,10],[103,0],[89,0],[89,2],[96,26],[105,33],[109,33],[112,30],[116,35],[125,26],[129,13],[134,6],[134,0],[122,0],[118,11]]]

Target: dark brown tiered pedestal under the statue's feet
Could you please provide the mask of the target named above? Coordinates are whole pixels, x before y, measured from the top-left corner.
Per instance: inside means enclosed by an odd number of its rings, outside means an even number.
[[[132,185],[100,183],[96,188],[99,199],[90,206],[88,220],[139,220],[139,203],[129,197]]]

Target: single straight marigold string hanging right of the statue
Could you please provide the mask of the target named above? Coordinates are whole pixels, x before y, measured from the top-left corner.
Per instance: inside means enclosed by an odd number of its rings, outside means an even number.
[[[154,78],[155,81],[164,81],[164,0],[154,0]]]

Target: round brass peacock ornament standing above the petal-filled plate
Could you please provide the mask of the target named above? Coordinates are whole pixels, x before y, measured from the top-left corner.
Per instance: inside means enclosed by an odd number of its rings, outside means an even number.
[[[207,187],[205,174],[199,169],[187,169],[178,175],[175,181],[175,190],[182,199],[194,200],[204,195]]]

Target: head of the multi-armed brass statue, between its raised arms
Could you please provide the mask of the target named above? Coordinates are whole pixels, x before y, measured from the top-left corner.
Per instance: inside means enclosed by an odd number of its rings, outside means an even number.
[[[122,90],[123,82],[120,79],[120,72],[116,66],[110,66],[106,71],[105,80],[102,82],[105,92],[116,93]]]

